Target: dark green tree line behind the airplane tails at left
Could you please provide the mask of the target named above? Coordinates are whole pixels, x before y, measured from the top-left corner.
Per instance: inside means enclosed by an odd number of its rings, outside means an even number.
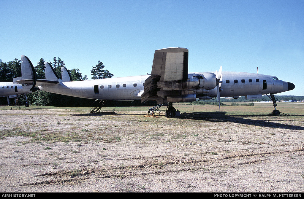
[[[36,66],[37,79],[45,79],[45,60],[40,58]],[[55,73],[61,78],[61,67],[65,67],[64,61],[60,57],[54,57],[53,61],[49,61],[50,65],[54,68]],[[111,78],[114,74],[109,70],[104,70],[104,65],[98,60],[98,63],[92,67],[91,75],[92,79]],[[88,79],[87,75],[82,75],[78,68],[68,70],[71,74],[71,81],[84,81]],[[9,62],[2,62],[0,59],[0,81],[12,82],[13,78],[21,76],[21,60],[14,59]],[[72,96],[60,95],[41,91],[39,88],[37,91],[27,94],[28,102],[36,105],[50,105],[58,107],[82,107],[91,106],[95,101],[93,99],[76,98]],[[10,103],[13,102],[13,98],[10,99]],[[6,98],[0,98],[0,104],[6,104]],[[19,103],[25,103],[24,98],[20,98]]]

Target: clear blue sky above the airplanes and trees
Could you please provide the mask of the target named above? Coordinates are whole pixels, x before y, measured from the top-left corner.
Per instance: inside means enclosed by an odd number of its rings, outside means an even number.
[[[304,1],[0,1],[0,59],[60,57],[91,79],[151,72],[154,50],[189,49],[189,72],[275,75],[304,95]]]

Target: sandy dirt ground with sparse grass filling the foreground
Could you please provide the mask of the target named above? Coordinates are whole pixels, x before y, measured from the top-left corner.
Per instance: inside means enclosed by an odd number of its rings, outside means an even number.
[[[304,122],[0,109],[1,192],[303,192]]]

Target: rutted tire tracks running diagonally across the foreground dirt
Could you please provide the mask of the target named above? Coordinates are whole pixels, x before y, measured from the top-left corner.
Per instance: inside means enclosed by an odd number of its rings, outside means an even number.
[[[276,152],[264,152],[264,153],[249,153],[249,154],[235,154],[232,156],[225,156],[218,159],[201,159],[201,160],[185,160],[185,157],[174,156],[174,155],[165,155],[165,156],[151,156],[151,157],[136,157],[136,158],[124,158],[124,160],[136,160],[142,159],[144,164],[139,165],[130,165],[126,166],[118,166],[112,168],[90,168],[90,169],[78,169],[78,170],[61,170],[55,173],[47,172],[36,175],[36,177],[50,177],[51,179],[41,180],[36,182],[27,182],[18,186],[33,186],[33,185],[48,185],[48,184],[81,184],[85,181],[99,178],[130,178],[130,177],[140,177],[147,175],[159,175],[166,173],[177,173],[177,172],[186,172],[192,170],[205,170],[205,169],[213,169],[213,168],[225,168],[225,167],[237,167],[244,166],[246,164],[252,163],[261,163],[267,161],[267,157],[264,159],[258,158],[254,160],[245,160],[243,162],[236,163],[235,161],[231,161],[231,159],[237,159],[238,161],[242,161],[239,158],[262,156],[262,155],[277,155],[283,153],[290,152],[299,152],[304,151],[304,148],[297,148],[292,150],[285,151],[276,151]],[[197,153],[197,154],[206,154],[206,153]],[[303,154],[299,154],[303,155]],[[168,158],[171,160],[167,160],[162,162],[161,164],[155,163],[156,158]],[[180,160],[179,163],[178,161]],[[182,160],[184,159],[184,160]],[[223,161],[224,160],[224,161]],[[31,166],[31,165],[24,165]],[[186,167],[186,168],[183,168]],[[157,171],[153,169],[158,169]],[[73,173],[77,172],[75,176]],[[84,174],[86,172],[87,174]],[[210,172],[210,171],[209,171]],[[216,171],[216,172],[224,172],[225,171]]]

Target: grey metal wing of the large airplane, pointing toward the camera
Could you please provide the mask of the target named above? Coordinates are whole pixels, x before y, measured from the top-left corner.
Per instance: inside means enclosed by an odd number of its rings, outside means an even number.
[[[155,50],[151,76],[145,81],[141,102],[163,99],[163,91],[181,91],[183,82],[187,79],[187,48],[174,47]]]

